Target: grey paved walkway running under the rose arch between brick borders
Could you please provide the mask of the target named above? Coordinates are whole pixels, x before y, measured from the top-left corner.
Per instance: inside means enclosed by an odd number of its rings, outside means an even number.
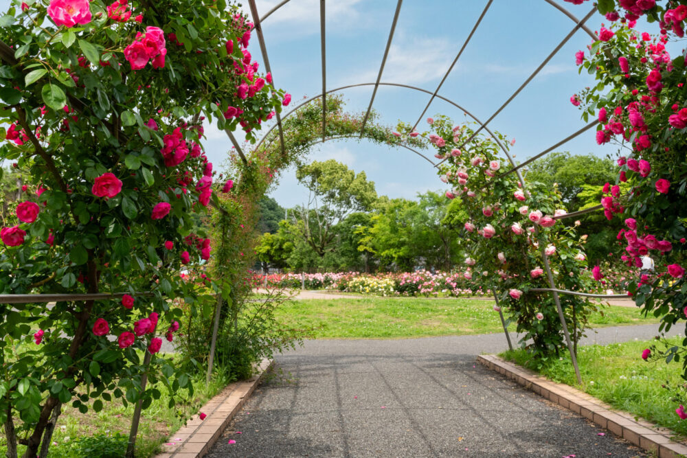
[[[602,328],[586,343],[656,331]],[[256,390],[209,456],[646,456],[475,363],[505,347],[503,334],[308,341],[276,358],[283,376]]]

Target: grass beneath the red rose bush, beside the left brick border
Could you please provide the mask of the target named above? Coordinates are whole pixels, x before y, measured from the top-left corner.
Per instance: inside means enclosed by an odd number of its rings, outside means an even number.
[[[188,405],[177,407],[179,413],[187,416],[194,415],[207,400],[226,385],[227,380],[216,377],[216,380],[206,387],[205,374],[198,376],[193,381],[193,398],[189,400]],[[184,424],[183,418],[175,415],[177,409],[168,407],[170,398],[164,385],[161,385],[159,390],[162,396],[158,400],[153,400],[150,407],[141,415],[136,440],[137,457],[155,456],[161,444],[167,442],[168,437]],[[188,397],[188,391],[185,389],[181,389],[179,394]],[[122,401],[115,398],[112,402],[104,402],[102,411],[98,413],[89,409],[84,414],[71,407],[71,404],[63,406],[63,413],[58,419],[52,436],[53,444],[49,450],[49,457],[123,457],[126,452],[133,410],[133,404],[124,407]],[[18,449],[21,456],[25,446],[20,445]],[[6,451],[6,441],[2,434],[0,435],[0,455],[4,456]]]

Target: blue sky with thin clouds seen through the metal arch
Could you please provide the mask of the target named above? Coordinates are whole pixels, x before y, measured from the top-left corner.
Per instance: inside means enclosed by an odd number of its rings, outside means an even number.
[[[592,8],[557,0],[582,18]],[[244,1],[248,11],[247,1]],[[264,15],[279,0],[257,0]],[[434,91],[464,43],[486,0],[405,0],[382,82],[412,84]],[[0,0],[6,10],[8,0]],[[329,0],[326,3],[327,87],[374,82],[390,31],[396,0]],[[594,14],[587,25],[598,30],[603,22]],[[494,0],[482,24],[467,45],[440,91],[482,120],[491,115],[526,80],[574,27],[574,23],[543,0]],[[293,95],[297,103],[322,90],[319,0],[291,0],[262,24],[275,84]],[[642,27],[642,30],[651,28]],[[578,75],[574,54],[585,49],[590,38],[582,30],[567,42],[547,67],[489,124],[493,130],[515,138],[511,151],[523,160],[549,148],[585,123],[581,112],[570,104],[570,96],[592,84],[592,77]],[[251,54],[264,69],[258,39],[254,34]],[[367,108],[372,87],[340,92],[348,111]],[[374,109],[380,122],[395,126],[399,119],[414,123],[429,95],[396,87],[380,87]],[[462,111],[435,100],[425,117],[438,113],[464,118]],[[269,126],[269,125],[268,125]],[[423,122],[418,130],[423,129]],[[223,131],[206,126],[204,146],[216,165],[227,157],[231,143]],[[238,138],[243,138],[240,132]],[[596,145],[594,131],[561,146],[574,154],[613,154],[612,146]],[[431,153],[429,153],[431,155]],[[387,148],[368,141],[328,141],[313,148],[309,159],[337,159],[357,172],[364,170],[376,183],[379,194],[414,198],[418,192],[442,189],[436,170],[424,159],[404,148]],[[294,170],[284,170],[280,184],[270,194],[281,205],[304,203],[307,191]]]

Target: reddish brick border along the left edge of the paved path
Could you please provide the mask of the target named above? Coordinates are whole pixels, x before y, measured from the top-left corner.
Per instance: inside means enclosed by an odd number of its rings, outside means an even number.
[[[250,398],[258,383],[267,374],[274,361],[263,359],[258,365],[258,374],[240,382],[234,382],[209,400],[199,411],[207,417],[201,420],[194,416],[170,437],[168,444],[162,446],[164,452],[155,458],[201,458],[204,457],[224,432],[234,415]],[[178,440],[175,440],[178,439]]]

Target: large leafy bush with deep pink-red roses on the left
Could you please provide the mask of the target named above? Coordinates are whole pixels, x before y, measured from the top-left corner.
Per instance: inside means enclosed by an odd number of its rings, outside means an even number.
[[[134,299],[2,308],[8,456],[17,442],[27,457],[41,442],[47,453],[61,404],[98,411],[115,397],[147,407],[160,393],[143,389],[144,372],[172,395],[189,387],[155,334],[179,329],[170,299],[197,300],[181,265],[210,257],[201,122],[240,126],[251,139],[284,98],[258,74],[251,27],[224,0],[43,0],[0,18],[0,159],[31,180],[19,224],[0,229],[0,293]]]

